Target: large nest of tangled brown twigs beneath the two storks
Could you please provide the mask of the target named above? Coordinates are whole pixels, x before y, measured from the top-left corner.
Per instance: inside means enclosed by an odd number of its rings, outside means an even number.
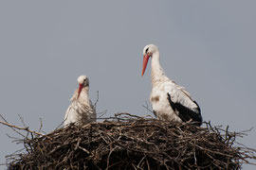
[[[9,169],[241,169],[255,150],[235,146],[242,133],[116,114],[83,127],[70,125],[24,139],[27,153]]]

